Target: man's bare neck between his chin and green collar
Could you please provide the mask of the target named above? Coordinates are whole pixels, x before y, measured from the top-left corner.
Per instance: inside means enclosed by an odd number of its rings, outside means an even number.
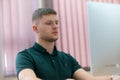
[[[48,42],[48,41],[36,41],[39,45],[41,45],[42,47],[44,47],[49,54],[51,54],[53,52],[54,49],[54,42]]]

